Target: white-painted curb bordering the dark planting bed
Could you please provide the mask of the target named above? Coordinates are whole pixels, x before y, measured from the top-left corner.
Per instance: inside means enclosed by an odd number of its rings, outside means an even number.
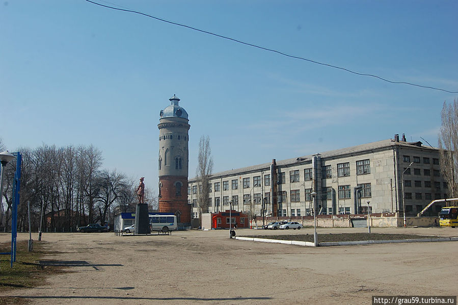
[[[298,240],[279,240],[279,239],[267,239],[257,237],[238,237],[235,239],[246,240],[246,241],[259,241],[259,242],[270,242],[277,244],[286,245],[298,245],[305,247],[314,247],[314,244],[309,241],[298,241]],[[352,245],[370,245],[370,244],[390,244],[390,243],[401,243],[401,242],[436,242],[436,241],[458,241],[458,237],[440,237],[440,238],[414,238],[414,239],[395,239],[395,240],[358,240],[358,241],[334,241],[334,242],[320,242],[318,246],[329,247],[329,246],[352,246]]]

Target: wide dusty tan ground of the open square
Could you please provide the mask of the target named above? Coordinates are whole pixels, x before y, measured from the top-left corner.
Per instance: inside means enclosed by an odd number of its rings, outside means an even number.
[[[367,228],[319,228],[364,233]],[[372,228],[373,233],[458,236],[453,228]],[[238,229],[237,236],[313,234]],[[38,243],[38,235],[32,237]],[[19,234],[18,240],[28,240]],[[11,235],[0,234],[0,242]],[[302,247],[229,239],[229,231],[115,236],[44,233],[71,272],[34,289],[0,291],[33,304],[371,304],[373,295],[456,295],[458,242]]]

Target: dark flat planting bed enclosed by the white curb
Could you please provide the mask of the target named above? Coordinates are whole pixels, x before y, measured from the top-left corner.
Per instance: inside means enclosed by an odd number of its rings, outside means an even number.
[[[313,234],[273,235],[273,236],[258,235],[258,236],[247,236],[247,237],[313,242]],[[397,239],[414,239],[414,238],[437,238],[437,236],[422,236],[422,235],[410,235],[410,234],[380,234],[380,233],[318,234],[319,242],[360,241],[360,240],[397,240]]]

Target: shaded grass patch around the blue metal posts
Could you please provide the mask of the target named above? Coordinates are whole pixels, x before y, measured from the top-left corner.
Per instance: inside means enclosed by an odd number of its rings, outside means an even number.
[[[33,288],[44,285],[46,276],[65,272],[62,267],[42,266],[37,262],[47,253],[43,249],[43,244],[34,241],[33,251],[28,251],[29,241],[19,241],[16,246],[16,262],[11,268],[11,255],[0,256],[0,290]],[[1,243],[0,252],[11,251],[11,242]],[[6,304],[25,304],[24,299],[0,298],[0,305]]]

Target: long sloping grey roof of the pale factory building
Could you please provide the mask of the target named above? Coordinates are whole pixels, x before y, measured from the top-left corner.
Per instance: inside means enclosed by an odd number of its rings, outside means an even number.
[[[345,155],[359,154],[359,153],[367,152],[370,150],[379,150],[383,148],[391,149],[394,146],[408,147],[408,148],[418,147],[418,148],[422,148],[426,150],[438,150],[438,148],[435,148],[435,147],[423,146],[422,142],[420,141],[418,142],[405,142],[405,141],[396,142],[394,139],[387,139],[387,140],[381,140],[381,141],[371,142],[367,144],[361,144],[361,145],[356,145],[356,146],[351,146],[351,147],[346,147],[346,148],[324,151],[322,153],[308,155],[308,156],[280,160],[280,161],[276,161],[276,163],[277,163],[277,166],[288,166],[288,165],[293,165],[293,164],[298,164],[298,163],[303,163],[303,162],[304,163],[311,162],[313,156],[315,155],[320,155],[321,159],[332,159],[334,157],[342,157]],[[262,169],[265,170],[265,169],[270,168],[271,164],[272,162],[238,168],[238,169],[231,169],[231,170],[213,173],[211,176],[212,178],[214,178],[214,177],[219,177],[219,176],[231,176],[231,175],[235,175],[239,173],[254,172],[254,171],[259,171]],[[194,180],[196,180],[196,177],[194,177],[193,179],[190,179],[190,181],[194,181]]]

